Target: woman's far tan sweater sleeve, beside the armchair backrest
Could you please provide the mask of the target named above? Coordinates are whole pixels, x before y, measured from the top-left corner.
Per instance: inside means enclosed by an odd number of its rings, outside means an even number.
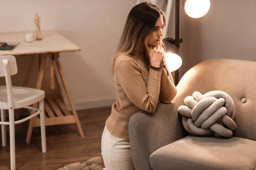
[[[166,65],[166,63],[165,63]],[[169,71],[166,65],[166,69]],[[172,74],[169,72],[169,76],[167,76],[166,69],[163,69],[161,75],[161,88],[159,94],[159,101],[162,103],[171,103],[174,97],[177,94],[177,89],[174,85]]]

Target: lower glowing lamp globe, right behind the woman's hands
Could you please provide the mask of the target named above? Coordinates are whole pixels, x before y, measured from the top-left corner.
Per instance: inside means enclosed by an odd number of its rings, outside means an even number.
[[[177,54],[166,53],[166,64],[169,68],[169,71],[172,72],[180,68],[182,64],[182,59]]]

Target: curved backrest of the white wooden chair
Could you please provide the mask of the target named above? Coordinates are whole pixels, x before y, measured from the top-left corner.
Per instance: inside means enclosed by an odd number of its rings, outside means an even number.
[[[9,70],[10,76],[17,74],[17,63],[14,56],[0,56],[0,77],[8,76],[4,71],[5,68]]]

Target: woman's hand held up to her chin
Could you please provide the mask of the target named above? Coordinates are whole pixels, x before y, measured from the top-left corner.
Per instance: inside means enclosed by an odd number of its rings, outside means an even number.
[[[149,50],[149,61],[152,66],[160,67],[160,64],[163,59],[163,51],[161,50],[160,46],[153,47]]]

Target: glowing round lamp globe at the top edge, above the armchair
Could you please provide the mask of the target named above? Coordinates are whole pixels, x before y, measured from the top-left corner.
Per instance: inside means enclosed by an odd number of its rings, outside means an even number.
[[[200,18],[209,11],[210,0],[186,0],[184,8],[189,17]]]

